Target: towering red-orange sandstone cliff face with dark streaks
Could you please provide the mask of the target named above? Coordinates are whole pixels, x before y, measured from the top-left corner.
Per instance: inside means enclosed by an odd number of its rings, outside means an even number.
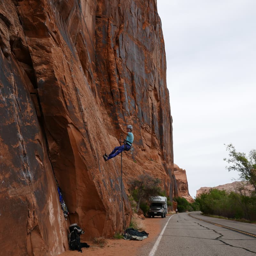
[[[127,183],[140,174],[178,195],[155,0],[2,0],[0,48],[5,255],[57,255],[74,222],[87,239],[120,232],[132,216]],[[119,145],[118,124],[134,128],[123,185],[120,156],[102,157]]]

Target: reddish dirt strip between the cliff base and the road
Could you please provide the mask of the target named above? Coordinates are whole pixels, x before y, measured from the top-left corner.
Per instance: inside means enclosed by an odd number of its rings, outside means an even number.
[[[166,216],[167,217],[167,216]],[[106,239],[107,244],[104,247],[93,244],[92,241],[82,241],[90,245],[90,248],[82,248],[82,253],[78,251],[66,251],[59,256],[131,256],[136,255],[139,248],[149,242],[156,240],[157,235],[160,234],[162,228],[162,221],[154,219],[141,219],[139,220],[143,230],[149,233],[148,238],[142,241],[124,240],[124,239]],[[161,218],[160,218],[161,220]],[[82,236],[81,236],[82,240]]]

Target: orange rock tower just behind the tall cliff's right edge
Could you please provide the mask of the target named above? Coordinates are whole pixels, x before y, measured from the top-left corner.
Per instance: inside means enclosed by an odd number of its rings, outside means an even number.
[[[173,165],[174,175],[178,186],[178,196],[184,197],[189,203],[193,203],[195,200],[188,192],[188,180],[186,170],[181,169],[177,164]]]

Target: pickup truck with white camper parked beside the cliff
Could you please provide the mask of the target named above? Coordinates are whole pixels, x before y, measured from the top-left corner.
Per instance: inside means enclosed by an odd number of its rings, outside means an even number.
[[[148,217],[161,216],[166,217],[167,213],[167,198],[165,196],[150,196],[149,197],[149,211]]]

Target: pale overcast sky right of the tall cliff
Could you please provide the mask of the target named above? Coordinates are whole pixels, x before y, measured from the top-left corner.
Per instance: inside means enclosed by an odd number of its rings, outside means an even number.
[[[174,163],[192,197],[238,179],[225,144],[256,148],[256,0],[157,0],[173,117]]]

